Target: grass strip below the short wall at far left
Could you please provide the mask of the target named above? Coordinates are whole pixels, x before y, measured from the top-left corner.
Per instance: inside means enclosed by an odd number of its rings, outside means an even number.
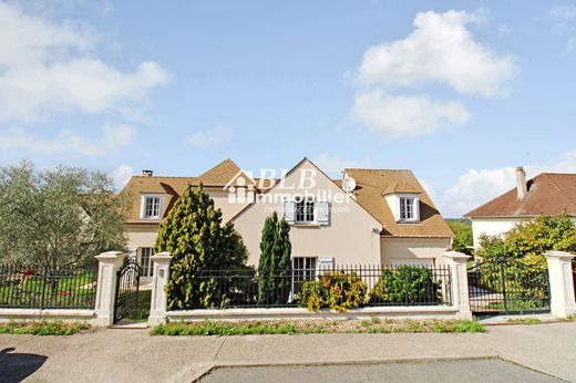
[[[72,335],[90,329],[84,322],[34,321],[0,323],[0,334]]]

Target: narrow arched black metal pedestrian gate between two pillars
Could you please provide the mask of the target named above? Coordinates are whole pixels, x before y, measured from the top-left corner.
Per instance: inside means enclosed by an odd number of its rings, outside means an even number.
[[[116,272],[114,323],[136,313],[138,309],[140,270],[140,265],[131,258]]]

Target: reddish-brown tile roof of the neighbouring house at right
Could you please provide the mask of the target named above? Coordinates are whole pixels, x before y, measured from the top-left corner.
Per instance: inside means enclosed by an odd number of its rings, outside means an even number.
[[[517,198],[513,188],[464,215],[481,217],[532,217],[567,213],[576,216],[576,174],[542,173],[527,182],[528,194]]]

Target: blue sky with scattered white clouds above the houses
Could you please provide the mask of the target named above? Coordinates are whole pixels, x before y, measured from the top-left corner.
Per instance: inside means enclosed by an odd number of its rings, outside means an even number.
[[[0,1],[0,166],[411,169],[444,217],[576,173],[576,2]]]

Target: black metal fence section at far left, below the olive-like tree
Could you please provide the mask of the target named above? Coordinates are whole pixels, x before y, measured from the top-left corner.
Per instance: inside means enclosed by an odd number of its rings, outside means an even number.
[[[93,309],[97,267],[0,265],[0,308]]]

